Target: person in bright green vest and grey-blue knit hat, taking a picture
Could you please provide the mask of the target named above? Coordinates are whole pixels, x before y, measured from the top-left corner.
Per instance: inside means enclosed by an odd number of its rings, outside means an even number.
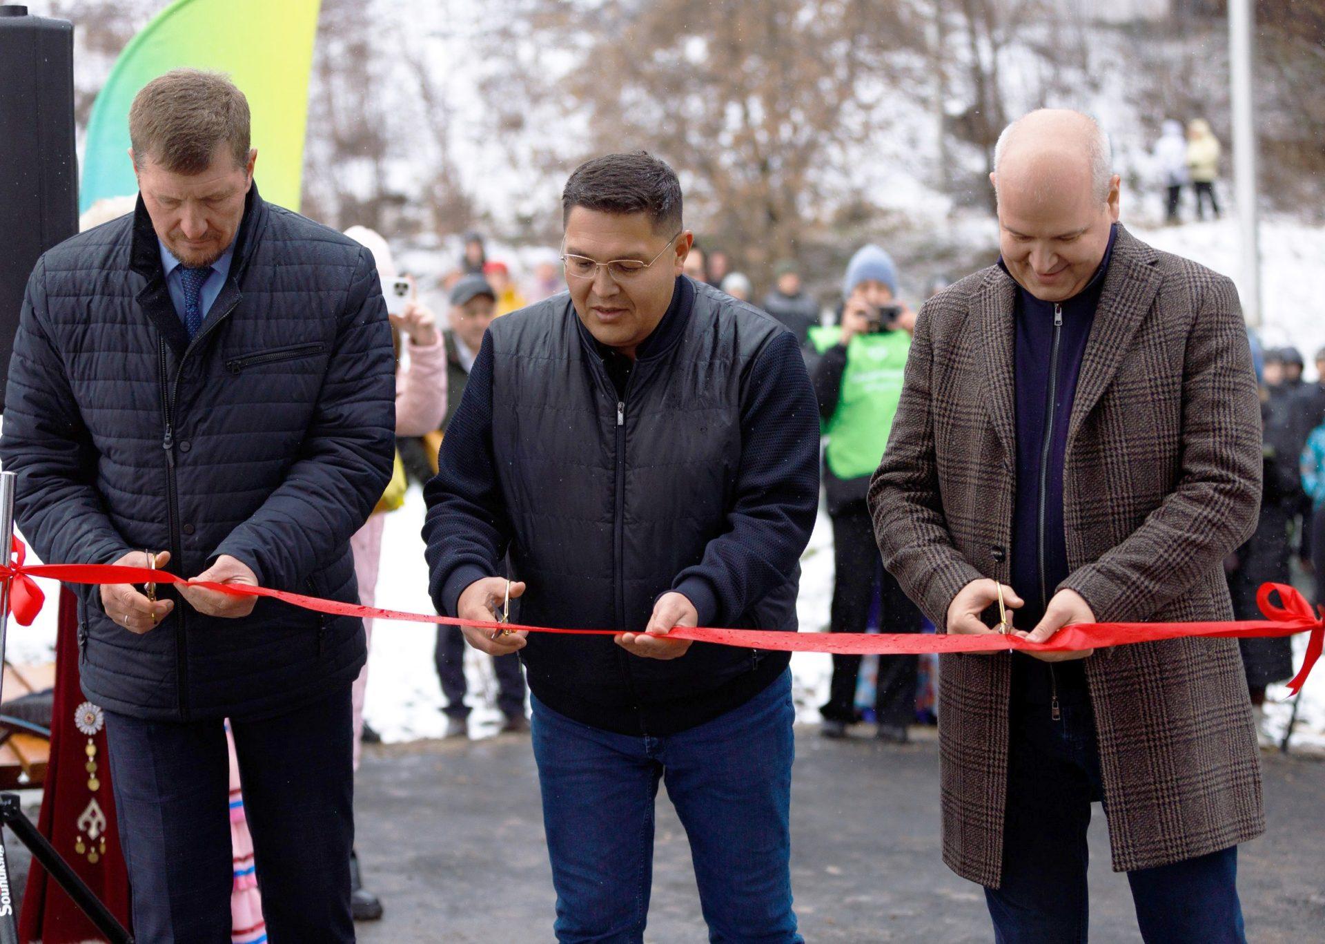
[[[884,632],[918,632],[920,610],[882,569],[865,492],[888,444],[902,391],[916,314],[898,304],[897,266],[877,245],[861,247],[847,265],[840,324],[810,329],[820,358],[814,371],[824,451],[824,492],[832,518],[836,578],[832,632],[864,632],[876,587]],[[859,655],[833,655],[832,685],[822,708],[824,737],[844,737],[859,720]],[[877,737],[905,742],[916,713],[917,658],[878,658]]]

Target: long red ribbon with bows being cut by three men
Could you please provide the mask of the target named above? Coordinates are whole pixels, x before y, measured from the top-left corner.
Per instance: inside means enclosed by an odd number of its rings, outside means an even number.
[[[151,570],[150,567],[126,567],[111,563],[46,563],[24,566],[23,545],[15,538],[17,562],[11,567],[0,567],[0,578],[13,577],[11,598],[13,613],[20,623],[28,626],[41,609],[41,590],[32,583],[32,577],[46,577],[66,583],[176,583],[205,590],[216,590],[235,597],[270,597],[293,606],[333,617],[362,617],[366,619],[392,619],[412,623],[436,623],[441,626],[469,626],[480,630],[517,630],[527,632],[560,632],[568,635],[617,635],[619,630],[571,630],[547,626],[519,626],[517,623],[496,623],[472,619],[456,619],[424,613],[403,610],[383,610],[358,603],[341,603],[333,599],[305,597],[284,590],[268,590],[244,583],[212,583],[208,581],[187,581],[183,577]],[[19,587],[24,587],[20,613]],[[30,587],[30,589],[28,589]],[[34,597],[33,597],[34,594]],[[1279,594],[1280,605],[1271,601]],[[33,606],[32,601],[36,601]],[[1265,619],[1246,619],[1227,623],[1081,623],[1064,626],[1047,643],[1030,643],[1012,635],[947,635],[921,632],[776,632],[768,630],[721,630],[712,627],[673,628],[668,638],[692,639],[694,642],[718,643],[719,646],[739,646],[742,648],[778,650],[783,652],[841,652],[851,655],[920,655],[924,652],[998,652],[1000,650],[1022,650],[1023,652],[1065,652],[1073,650],[1104,648],[1109,646],[1129,646],[1133,643],[1159,642],[1165,639],[1186,639],[1208,636],[1214,639],[1251,639],[1271,636],[1291,636],[1297,632],[1310,632],[1302,668],[1288,683],[1293,695],[1302,689],[1306,676],[1321,656],[1325,647],[1325,607],[1320,615],[1312,611],[1310,603],[1285,583],[1264,583],[1256,594],[1256,602]],[[26,619],[25,619],[26,617]]]

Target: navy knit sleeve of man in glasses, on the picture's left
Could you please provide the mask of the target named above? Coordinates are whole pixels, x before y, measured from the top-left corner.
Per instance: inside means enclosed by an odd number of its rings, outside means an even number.
[[[474,581],[497,575],[510,544],[493,457],[493,347],[490,335],[469,370],[437,455],[437,475],[424,487],[428,516],[428,591],[437,613],[456,615],[456,603]]]

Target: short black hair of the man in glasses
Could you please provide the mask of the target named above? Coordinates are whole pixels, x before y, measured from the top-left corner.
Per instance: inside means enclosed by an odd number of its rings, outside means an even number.
[[[562,225],[571,209],[648,213],[655,229],[681,228],[681,182],[648,151],[607,154],[575,168],[562,191]]]

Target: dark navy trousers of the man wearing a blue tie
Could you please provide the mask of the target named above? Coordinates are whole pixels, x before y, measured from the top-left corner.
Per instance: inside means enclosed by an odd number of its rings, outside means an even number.
[[[352,941],[350,687],[262,721],[232,721],[244,813],[273,944]],[[134,936],[229,944],[229,752],[221,719],[106,712]]]

